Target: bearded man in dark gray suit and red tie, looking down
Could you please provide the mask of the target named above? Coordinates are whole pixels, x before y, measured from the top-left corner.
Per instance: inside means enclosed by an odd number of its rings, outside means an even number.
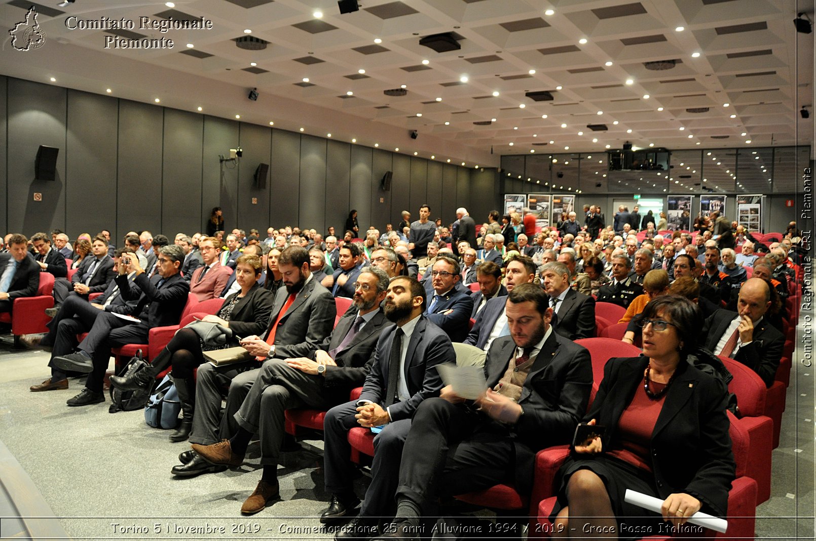
[[[198,368],[195,414],[190,443],[210,446],[237,433],[235,413],[241,407],[261,363],[275,363],[282,358],[302,358],[314,355],[335,324],[337,307],[331,293],[314,279],[309,270],[306,249],[290,246],[277,260],[283,284],[275,294],[272,317],[265,339],[246,336],[241,345],[257,363],[228,364],[214,367],[204,363]],[[273,359],[273,360],[268,360]],[[229,386],[227,407],[221,415],[221,389]],[[174,475],[193,477],[224,469],[210,464],[200,455],[180,455],[183,466],[172,469]]]

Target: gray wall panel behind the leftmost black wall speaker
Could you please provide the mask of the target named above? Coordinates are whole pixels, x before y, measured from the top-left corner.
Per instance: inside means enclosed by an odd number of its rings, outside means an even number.
[[[8,84],[8,202],[11,229],[30,236],[65,227],[65,108],[67,92],[58,86],[10,79]],[[58,147],[54,182],[34,179],[40,145]],[[42,201],[34,201],[34,193]],[[73,238],[73,237],[72,237]]]

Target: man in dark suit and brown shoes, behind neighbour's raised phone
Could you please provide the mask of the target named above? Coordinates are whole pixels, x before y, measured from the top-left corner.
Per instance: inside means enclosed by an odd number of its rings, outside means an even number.
[[[96,243],[94,243],[96,244]],[[108,257],[107,249],[104,250],[104,257]],[[118,265],[122,257],[122,250],[114,253],[114,257],[108,257],[112,262],[114,274],[118,272]],[[78,274],[78,273],[77,273]],[[133,284],[135,272],[127,275],[130,280],[131,289],[138,290],[139,286]],[[119,284],[111,280],[108,288],[93,301],[88,301],[88,297],[83,295],[69,295],[55,316],[47,323],[48,333],[42,339],[29,340],[28,344],[51,348],[51,358],[48,366],[51,367],[51,377],[39,385],[32,385],[29,390],[33,392],[51,391],[57,389],[68,389],[68,375],[54,364],[54,358],[70,354],[77,348],[77,335],[82,332],[89,332],[96,321],[96,318],[104,312],[113,314],[130,314],[136,307],[136,300],[127,301],[122,297]]]

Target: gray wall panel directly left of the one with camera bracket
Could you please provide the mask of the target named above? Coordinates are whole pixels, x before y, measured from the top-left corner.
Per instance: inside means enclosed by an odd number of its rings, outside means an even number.
[[[203,136],[202,115],[165,109],[162,233],[170,240],[180,232],[192,235],[190,224],[202,222]]]

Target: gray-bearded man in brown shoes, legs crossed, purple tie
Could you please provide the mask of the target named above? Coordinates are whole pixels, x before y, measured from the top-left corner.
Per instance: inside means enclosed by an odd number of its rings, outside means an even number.
[[[305,357],[273,358],[255,372],[255,382],[234,415],[237,429],[220,433],[230,439],[212,445],[193,444],[193,451],[188,451],[209,464],[239,466],[252,434],[258,433],[264,473],[241,508],[244,514],[261,511],[280,495],[277,460],[285,436],[284,411],[294,407],[327,410],[347,400],[351,389],[366,379],[374,346],[388,325],[379,307],[388,288],[388,275],[366,266],[354,286],[353,309],[344,314],[317,350]]]

